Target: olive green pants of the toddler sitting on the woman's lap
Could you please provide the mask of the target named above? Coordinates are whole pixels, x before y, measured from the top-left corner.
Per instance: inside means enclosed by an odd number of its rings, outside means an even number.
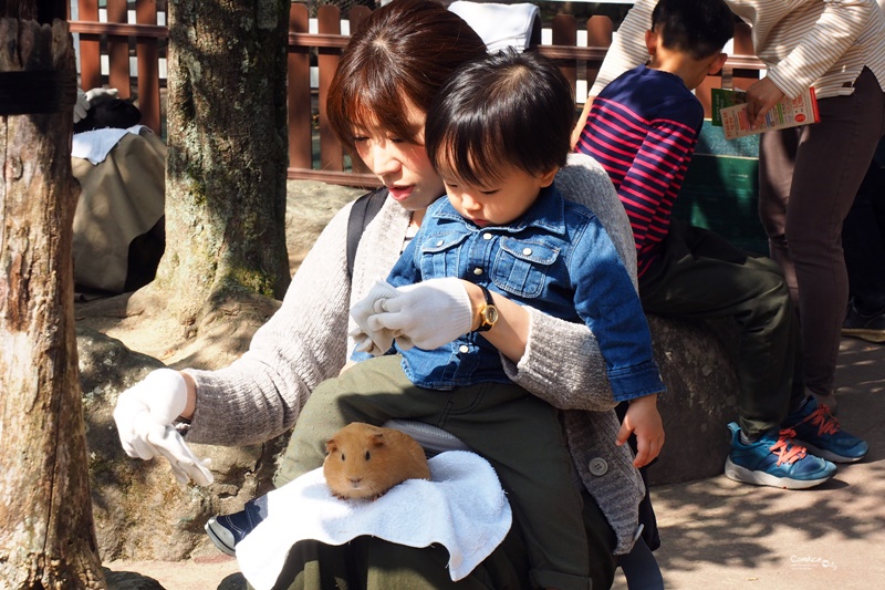
[[[589,541],[577,518],[584,500],[574,484],[559,411],[513,384],[417,387],[400,360],[364,361],[316,387],[282,456],[277,487],[320,467],[325,441],[346,424],[381,425],[391,418],[433,424],[494,467],[521,526],[532,582],[562,590],[589,588]]]

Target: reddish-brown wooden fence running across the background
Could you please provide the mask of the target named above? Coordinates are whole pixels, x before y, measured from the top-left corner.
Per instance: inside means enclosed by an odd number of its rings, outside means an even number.
[[[77,18],[71,20],[71,32],[77,33],[80,76],[83,89],[102,85],[119,90],[121,97],[136,99],[143,123],[163,134],[165,76],[160,60],[165,59],[168,29],[165,25],[166,0],[106,0],[106,19],[100,22],[97,0],[77,0]],[[134,7],[132,10],[131,7]],[[347,31],[358,27],[371,13],[366,7],[354,7],[344,21]],[[158,24],[163,22],[163,24]],[[322,6],[317,10],[316,31],[310,31],[311,20],[305,4],[293,3],[289,14],[289,178],[312,179],[345,185],[376,185],[376,178],[365,170],[351,169],[342,146],[332,133],[325,116],[325,97],[342,49],[350,39],[342,33],[340,10]],[[593,83],[598,66],[612,41],[612,22],[607,17],[592,17],[580,23],[570,14],[552,19],[540,51],[553,58],[572,85],[583,87]],[[579,37],[586,33],[586,46]],[[708,76],[697,95],[709,116],[709,89],[743,85],[758,77],[762,68],[752,56],[748,27],[739,25],[721,74]],[[311,61],[315,54],[316,83],[311,84]],[[107,74],[102,73],[106,59]],[[137,75],[131,71],[131,60]],[[750,80],[746,80],[750,79]],[[583,96],[577,96],[579,103]],[[580,104],[579,104],[580,106]],[[315,142],[319,147],[315,147]]]

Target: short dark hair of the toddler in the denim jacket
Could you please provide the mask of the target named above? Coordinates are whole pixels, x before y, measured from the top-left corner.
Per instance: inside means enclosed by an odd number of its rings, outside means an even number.
[[[540,175],[565,165],[574,126],[571,84],[534,51],[506,50],[460,68],[427,112],[425,145],[439,170],[483,185],[516,167]]]

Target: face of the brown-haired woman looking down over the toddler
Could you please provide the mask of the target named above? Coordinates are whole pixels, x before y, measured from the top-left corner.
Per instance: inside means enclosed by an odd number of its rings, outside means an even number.
[[[434,170],[424,147],[426,113],[407,107],[408,120],[420,130],[417,137],[398,137],[384,128],[383,122],[372,127],[354,128],[356,152],[377,176],[391,197],[409,211],[426,209],[445,194],[439,175]]]

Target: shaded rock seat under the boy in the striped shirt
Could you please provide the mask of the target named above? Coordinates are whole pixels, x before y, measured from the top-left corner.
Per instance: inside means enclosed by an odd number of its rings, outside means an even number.
[[[649,315],[652,343],[667,393],[658,397],[666,443],[648,469],[652,485],[722,473],[727,425],[738,416],[737,328]]]

